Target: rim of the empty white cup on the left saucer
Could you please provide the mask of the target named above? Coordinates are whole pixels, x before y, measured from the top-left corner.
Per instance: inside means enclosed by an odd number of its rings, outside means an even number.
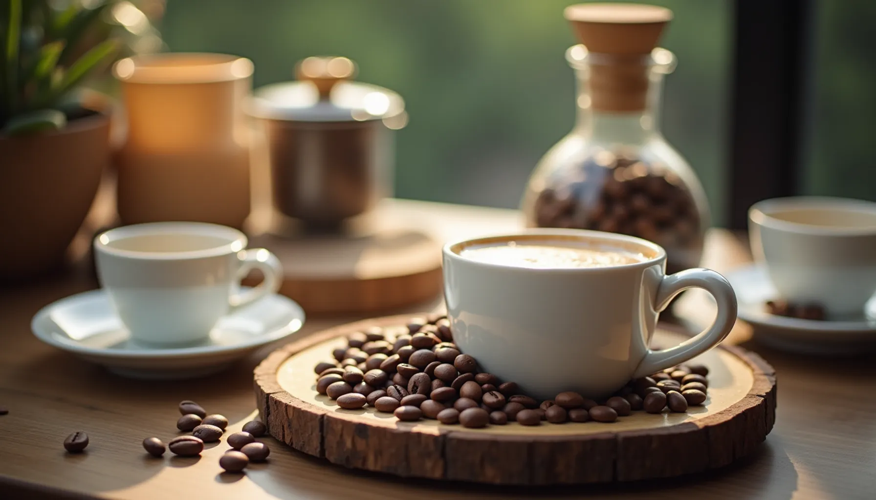
[[[181,251],[145,251],[123,250],[109,246],[109,243],[131,236],[152,236],[166,234],[187,234],[198,236],[227,237],[228,243],[216,245],[202,250]],[[237,229],[211,224],[209,222],[145,222],[131,224],[119,228],[109,229],[95,236],[94,247],[96,251],[115,257],[124,257],[138,260],[193,260],[204,257],[220,257],[244,250],[247,245],[244,233]]]

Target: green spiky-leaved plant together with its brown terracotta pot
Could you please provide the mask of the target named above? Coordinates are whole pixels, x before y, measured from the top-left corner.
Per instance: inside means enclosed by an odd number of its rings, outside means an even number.
[[[0,4],[0,280],[63,262],[109,165],[108,100],[83,83],[117,53],[111,3],[56,5]]]

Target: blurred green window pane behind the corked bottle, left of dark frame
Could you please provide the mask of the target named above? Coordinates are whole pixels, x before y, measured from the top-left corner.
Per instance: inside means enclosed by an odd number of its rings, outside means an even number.
[[[256,87],[292,78],[295,61],[337,54],[358,80],[401,94],[397,196],[516,208],[540,156],[570,129],[576,43],[569,0],[169,0],[173,51],[236,53]],[[663,113],[669,141],[699,173],[723,221],[731,1],[661,1],[675,11],[663,46],[679,60]]]

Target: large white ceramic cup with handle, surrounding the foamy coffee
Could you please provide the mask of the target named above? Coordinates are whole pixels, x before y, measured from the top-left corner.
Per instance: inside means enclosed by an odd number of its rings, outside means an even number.
[[[465,250],[502,245],[617,251],[635,258],[600,267],[530,267],[466,257]],[[443,257],[454,342],[482,370],[516,382],[536,398],[562,391],[607,396],[631,378],[715,347],[736,320],[736,295],[724,277],[708,269],[666,276],[666,251],[632,236],[533,229],[449,243]],[[659,313],[693,287],[715,297],[714,324],[680,345],[651,349]]]

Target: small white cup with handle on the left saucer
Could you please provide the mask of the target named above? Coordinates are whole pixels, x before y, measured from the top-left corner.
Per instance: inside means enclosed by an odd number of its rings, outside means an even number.
[[[135,342],[173,347],[206,339],[231,308],[275,293],[279,260],[246,248],[237,229],[203,222],[152,222],[110,229],[95,238],[101,285]],[[264,281],[241,291],[253,269]]]

